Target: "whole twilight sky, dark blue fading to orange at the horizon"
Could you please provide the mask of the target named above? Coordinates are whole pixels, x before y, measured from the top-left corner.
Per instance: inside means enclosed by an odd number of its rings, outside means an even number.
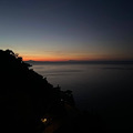
[[[132,0],[0,0],[0,49],[23,60],[133,60]]]

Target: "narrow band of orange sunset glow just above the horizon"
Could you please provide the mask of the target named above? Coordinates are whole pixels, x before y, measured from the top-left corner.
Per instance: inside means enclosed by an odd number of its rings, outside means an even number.
[[[119,55],[119,54],[37,54],[37,53],[22,53],[20,57],[22,57],[23,61],[116,61],[116,60],[127,60],[129,57],[125,55]]]

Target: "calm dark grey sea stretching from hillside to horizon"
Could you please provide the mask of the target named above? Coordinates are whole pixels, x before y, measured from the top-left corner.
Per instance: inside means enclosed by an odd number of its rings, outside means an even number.
[[[79,110],[99,115],[108,129],[133,124],[133,63],[32,63],[62,91],[71,90]]]

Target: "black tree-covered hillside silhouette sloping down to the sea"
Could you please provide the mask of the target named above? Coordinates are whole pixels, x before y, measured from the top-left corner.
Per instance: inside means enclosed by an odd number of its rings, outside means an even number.
[[[76,109],[72,91],[54,88],[30,66],[12,50],[0,50],[2,133],[103,133],[98,115]]]

